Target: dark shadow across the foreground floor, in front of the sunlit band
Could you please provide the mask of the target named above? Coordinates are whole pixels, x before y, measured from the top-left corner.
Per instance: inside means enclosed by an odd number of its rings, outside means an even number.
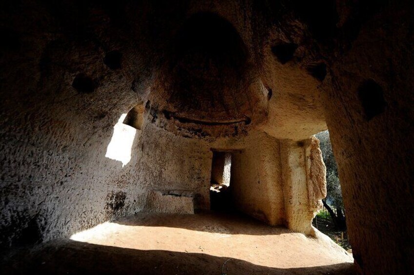
[[[20,251],[1,263],[1,274],[355,274],[352,263],[271,268],[199,253],[136,250],[55,240]]]

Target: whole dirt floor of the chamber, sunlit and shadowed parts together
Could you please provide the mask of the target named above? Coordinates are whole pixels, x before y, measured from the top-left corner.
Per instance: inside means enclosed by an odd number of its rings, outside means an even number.
[[[139,214],[20,251],[1,274],[354,274],[326,236],[235,214]]]

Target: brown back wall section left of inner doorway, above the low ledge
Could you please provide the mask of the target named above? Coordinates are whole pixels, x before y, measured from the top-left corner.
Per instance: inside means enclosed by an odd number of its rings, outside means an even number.
[[[213,152],[208,142],[176,136],[146,123],[140,146],[137,185],[163,192],[192,191],[196,209],[210,208]]]

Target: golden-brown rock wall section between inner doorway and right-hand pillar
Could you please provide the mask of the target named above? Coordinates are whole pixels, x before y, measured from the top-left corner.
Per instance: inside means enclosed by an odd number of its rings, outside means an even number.
[[[249,137],[231,158],[230,186],[235,206],[271,225],[285,223],[279,141],[266,133]]]

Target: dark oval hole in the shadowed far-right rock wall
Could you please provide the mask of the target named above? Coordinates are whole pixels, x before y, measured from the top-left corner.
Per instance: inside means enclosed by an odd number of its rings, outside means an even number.
[[[383,113],[387,106],[383,89],[372,79],[364,81],[359,86],[358,96],[367,120],[371,120],[374,116]]]

